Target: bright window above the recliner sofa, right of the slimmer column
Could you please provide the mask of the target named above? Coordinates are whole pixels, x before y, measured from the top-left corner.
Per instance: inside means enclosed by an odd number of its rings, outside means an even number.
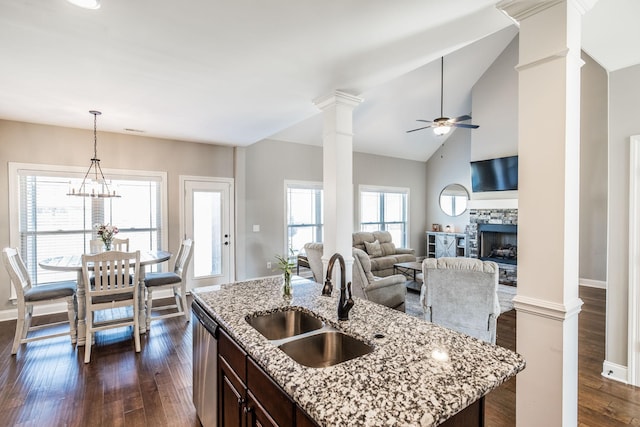
[[[408,189],[360,187],[360,230],[388,231],[396,245],[408,247],[408,204]]]

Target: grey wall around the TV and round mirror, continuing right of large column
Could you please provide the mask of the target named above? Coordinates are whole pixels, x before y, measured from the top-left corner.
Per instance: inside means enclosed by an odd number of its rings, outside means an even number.
[[[583,53],[581,89],[580,278],[606,281],[607,250],[607,73]],[[455,134],[427,162],[427,224],[458,223],[438,208],[442,188],[459,180],[471,191],[469,161],[518,153],[518,38],[476,82],[472,91],[473,122],[480,128],[465,148]],[[637,84],[636,84],[637,85]],[[627,149],[628,153],[628,149]],[[626,165],[626,163],[625,163]],[[541,172],[542,173],[542,172]],[[451,177],[451,178],[449,178]],[[625,178],[626,179],[626,178]],[[626,185],[626,181],[625,181]],[[627,187],[628,188],[628,187]],[[625,190],[626,191],[626,190]],[[626,194],[626,193],[624,193]],[[472,199],[517,198],[517,191],[471,193]],[[625,208],[626,209],[626,208]],[[626,212],[626,211],[625,211]],[[459,218],[468,219],[468,215]],[[625,223],[626,224],[626,223]],[[464,229],[456,226],[456,230]]]

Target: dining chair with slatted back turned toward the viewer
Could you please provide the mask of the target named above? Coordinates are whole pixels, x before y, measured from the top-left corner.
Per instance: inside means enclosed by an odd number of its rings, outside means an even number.
[[[91,360],[91,342],[96,332],[122,326],[133,326],[135,350],[139,353],[140,251],[82,255],[82,276],[88,284],[85,289],[87,338],[84,363]],[[127,307],[131,307],[132,313],[126,310]]]

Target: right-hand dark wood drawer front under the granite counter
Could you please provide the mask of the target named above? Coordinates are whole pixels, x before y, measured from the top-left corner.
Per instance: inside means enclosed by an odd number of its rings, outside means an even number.
[[[294,425],[295,405],[293,401],[253,359],[247,359],[247,388],[251,394],[278,425]]]

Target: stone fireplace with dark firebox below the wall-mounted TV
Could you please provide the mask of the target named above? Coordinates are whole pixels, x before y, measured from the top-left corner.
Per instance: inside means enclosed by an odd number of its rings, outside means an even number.
[[[469,257],[494,261],[500,268],[500,283],[516,286],[518,210],[471,209],[469,222]]]

